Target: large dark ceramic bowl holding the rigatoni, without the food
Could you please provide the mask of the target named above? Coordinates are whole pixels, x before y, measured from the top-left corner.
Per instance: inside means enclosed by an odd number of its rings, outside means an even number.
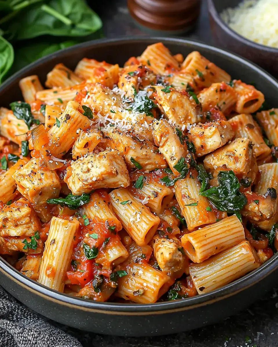
[[[74,69],[83,57],[106,60],[120,66],[130,56],[138,56],[147,45],[162,41],[173,54],[186,56],[198,50],[236,79],[254,82],[271,107],[278,105],[278,82],[259,67],[229,52],[206,44],[161,37],[98,40],[85,42],[53,53],[25,67],[0,86],[0,105],[22,100],[21,78],[36,74],[43,83],[55,64],[63,62]],[[202,327],[243,310],[275,286],[278,279],[278,253],[259,269],[214,290],[179,301],[149,305],[98,303],[48,289],[19,273],[0,257],[0,285],[34,311],[71,327],[125,336],[153,336]]]

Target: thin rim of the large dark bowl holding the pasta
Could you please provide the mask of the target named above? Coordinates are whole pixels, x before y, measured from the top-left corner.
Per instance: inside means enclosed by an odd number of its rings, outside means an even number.
[[[265,79],[268,80],[269,83],[274,85],[278,90],[278,81],[273,78],[269,73],[264,71],[262,68],[257,66],[256,64],[251,63],[249,60],[240,57],[235,53],[231,53],[227,50],[223,50],[220,48],[213,47],[211,45],[207,45],[205,43],[201,43],[194,40],[185,40],[177,37],[159,37],[159,36],[137,36],[137,37],[123,37],[120,39],[100,39],[100,40],[92,40],[83,42],[66,49],[60,50],[55,53],[51,53],[46,57],[43,57],[30,65],[27,65],[23,69],[17,71],[13,76],[9,77],[1,86],[0,93],[5,90],[5,88],[10,84],[25,76],[30,69],[38,67],[42,65],[44,62],[51,60],[52,58],[56,58],[59,56],[63,56],[65,52],[74,52],[79,48],[87,48],[91,47],[99,47],[104,45],[117,45],[118,43],[130,43],[131,41],[141,42],[152,44],[154,42],[163,42],[165,45],[167,44],[181,44],[181,45],[190,45],[193,46],[194,49],[206,49],[210,52],[214,52],[216,54],[221,54],[222,56],[231,59],[237,60],[240,64],[244,66],[248,66],[254,70],[255,73],[260,74]],[[5,276],[9,277],[14,282],[19,283],[22,287],[27,288],[29,291],[42,296],[48,300],[56,301],[57,304],[61,305],[70,305],[79,310],[85,311],[95,311],[95,312],[103,312],[106,314],[155,314],[162,311],[167,312],[175,312],[175,311],[183,311],[190,310],[193,307],[204,306],[210,304],[215,301],[219,301],[224,299],[225,297],[230,297],[235,295],[236,293],[255,285],[255,283],[261,281],[263,278],[268,276],[271,272],[278,269],[278,252],[271,257],[267,262],[261,265],[258,269],[252,271],[246,276],[224,286],[219,289],[216,289],[210,293],[197,295],[191,298],[187,298],[185,300],[177,300],[170,302],[158,302],[153,304],[125,304],[125,303],[110,303],[110,302],[94,302],[87,299],[76,298],[70,295],[59,293],[56,290],[50,289],[46,286],[41,285],[38,282],[35,282],[28,277],[24,276],[18,270],[13,268],[9,263],[7,263],[2,257],[0,257],[0,271],[5,274]]]

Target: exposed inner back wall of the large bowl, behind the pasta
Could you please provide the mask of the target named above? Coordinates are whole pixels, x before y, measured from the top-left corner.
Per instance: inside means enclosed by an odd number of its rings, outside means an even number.
[[[161,37],[89,41],[41,58],[18,71],[0,86],[0,105],[8,107],[10,102],[22,100],[18,82],[23,77],[38,75],[43,84],[46,81],[47,73],[56,64],[62,62],[65,66],[74,70],[77,63],[84,57],[100,61],[105,60],[111,64],[123,66],[129,57],[139,56],[147,45],[159,41],[163,41],[173,54],[182,53],[184,57],[192,51],[199,51],[214,64],[226,70],[232,79],[241,79],[245,83],[255,83],[256,87],[265,95],[269,105],[271,107],[278,106],[278,102],[275,104],[277,85],[273,85],[274,79],[267,73],[262,73],[259,67],[235,56],[235,54],[202,43],[182,39],[163,39]]]

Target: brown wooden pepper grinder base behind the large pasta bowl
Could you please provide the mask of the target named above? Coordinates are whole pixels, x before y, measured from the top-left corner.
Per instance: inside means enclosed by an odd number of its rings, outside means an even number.
[[[128,0],[131,16],[140,24],[168,34],[185,33],[199,16],[201,0]]]

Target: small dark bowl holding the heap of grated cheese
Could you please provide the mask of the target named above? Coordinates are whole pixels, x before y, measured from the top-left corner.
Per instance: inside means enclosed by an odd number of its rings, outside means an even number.
[[[273,76],[278,77],[278,48],[264,46],[246,39],[231,29],[220,17],[228,7],[236,7],[242,0],[207,0],[210,25],[217,45],[253,61]]]

